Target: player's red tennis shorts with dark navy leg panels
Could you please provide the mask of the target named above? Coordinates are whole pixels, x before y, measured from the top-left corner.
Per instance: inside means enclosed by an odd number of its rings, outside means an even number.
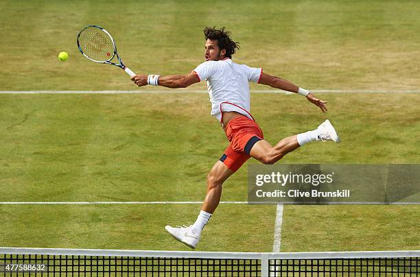
[[[264,139],[264,135],[259,125],[246,116],[229,121],[225,132],[230,143],[220,161],[235,172],[250,158],[250,149]]]

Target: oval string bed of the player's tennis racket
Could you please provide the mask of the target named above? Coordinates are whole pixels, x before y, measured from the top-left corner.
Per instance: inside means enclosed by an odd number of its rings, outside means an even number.
[[[79,45],[83,53],[98,62],[105,62],[114,56],[113,40],[97,27],[87,27],[80,34]]]

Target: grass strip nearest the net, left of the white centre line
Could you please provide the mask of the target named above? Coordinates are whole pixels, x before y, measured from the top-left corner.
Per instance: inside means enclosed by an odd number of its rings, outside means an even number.
[[[189,250],[164,226],[192,224],[200,205],[19,205],[1,206],[0,211],[1,246]],[[198,250],[270,251],[274,217],[272,206],[221,204]],[[263,232],[261,224],[270,232]]]

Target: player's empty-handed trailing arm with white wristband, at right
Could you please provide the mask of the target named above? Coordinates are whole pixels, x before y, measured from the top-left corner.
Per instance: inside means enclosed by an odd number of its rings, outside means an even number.
[[[279,88],[283,91],[299,93],[301,95],[304,95],[306,99],[312,104],[318,106],[323,112],[327,111],[327,107],[325,106],[325,104],[327,104],[327,101],[322,101],[316,98],[315,95],[313,95],[310,91],[306,91],[303,88],[299,88],[299,86],[292,84],[288,80],[283,80],[279,77],[275,77],[267,73],[261,73],[261,77],[259,78],[259,84],[266,84],[267,86],[271,86],[272,88]]]

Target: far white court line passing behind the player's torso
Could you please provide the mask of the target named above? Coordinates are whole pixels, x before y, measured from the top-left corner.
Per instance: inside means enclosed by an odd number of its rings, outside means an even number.
[[[420,93],[420,90],[334,90],[334,89],[315,89],[314,93]],[[208,93],[207,90],[137,90],[137,91],[0,91],[0,94],[161,94],[161,93]],[[251,93],[285,93],[293,94],[281,90],[253,90]]]

